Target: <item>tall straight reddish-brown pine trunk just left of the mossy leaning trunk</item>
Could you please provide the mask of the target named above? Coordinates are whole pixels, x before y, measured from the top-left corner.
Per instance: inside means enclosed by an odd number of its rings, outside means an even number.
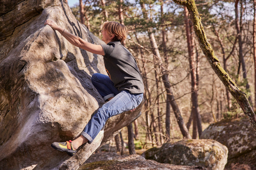
[[[185,27],[186,27],[186,35],[187,35],[187,44],[188,44],[188,58],[189,58],[189,66],[190,66],[190,72],[191,72],[191,100],[192,100],[192,113],[193,113],[193,135],[192,138],[196,139],[197,132],[198,131],[199,136],[202,134],[202,122],[201,122],[201,116],[199,114],[199,106],[198,106],[198,99],[197,99],[197,80],[196,80],[196,64],[195,64],[195,45],[194,40],[192,38],[191,32],[192,29],[190,29],[190,20],[189,20],[189,13],[186,6],[184,6],[184,21],[185,21]],[[197,128],[196,128],[197,127]],[[195,130],[195,132],[194,132]]]

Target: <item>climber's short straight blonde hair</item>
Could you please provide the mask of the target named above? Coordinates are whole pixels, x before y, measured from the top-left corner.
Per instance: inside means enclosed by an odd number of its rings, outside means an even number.
[[[112,41],[124,41],[126,39],[127,28],[125,25],[115,21],[108,21],[103,23],[102,30],[105,30],[109,37],[114,35]]]

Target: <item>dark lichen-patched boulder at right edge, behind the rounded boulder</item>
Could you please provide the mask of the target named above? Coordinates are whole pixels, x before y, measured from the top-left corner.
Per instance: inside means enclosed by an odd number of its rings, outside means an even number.
[[[248,119],[223,120],[207,127],[200,138],[214,139],[228,148],[228,164],[249,164],[256,168],[256,133]]]

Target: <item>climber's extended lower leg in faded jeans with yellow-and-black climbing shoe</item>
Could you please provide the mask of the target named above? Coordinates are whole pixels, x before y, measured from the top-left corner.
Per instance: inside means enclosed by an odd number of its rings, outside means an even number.
[[[51,146],[54,149],[66,152],[68,155],[73,156],[77,152],[77,148],[83,143],[91,143],[93,141],[99,131],[104,127],[108,118],[135,109],[141,103],[142,98],[143,93],[130,94],[127,91],[121,91],[121,93],[105,103],[102,108],[93,115],[78,138],[73,141],[54,142]]]

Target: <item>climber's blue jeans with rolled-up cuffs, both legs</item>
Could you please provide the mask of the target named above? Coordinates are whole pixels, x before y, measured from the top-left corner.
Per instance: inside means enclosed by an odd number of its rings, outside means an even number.
[[[89,140],[89,143],[93,141],[110,117],[136,108],[143,99],[143,93],[131,94],[126,90],[118,91],[107,75],[95,73],[91,80],[104,101],[110,97],[113,99],[102,105],[81,133]]]

